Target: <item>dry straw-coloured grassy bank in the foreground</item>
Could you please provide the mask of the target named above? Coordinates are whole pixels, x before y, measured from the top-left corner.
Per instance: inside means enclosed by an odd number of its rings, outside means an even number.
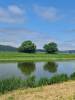
[[[0,100],[75,100],[75,81],[19,89],[0,96]]]

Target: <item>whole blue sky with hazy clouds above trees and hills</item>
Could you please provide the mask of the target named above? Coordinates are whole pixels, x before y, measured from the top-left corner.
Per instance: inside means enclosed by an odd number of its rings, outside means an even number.
[[[0,0],[0,44],[26,40],[38,49],[56,42],[59,50],[74,50],[75,0]]]

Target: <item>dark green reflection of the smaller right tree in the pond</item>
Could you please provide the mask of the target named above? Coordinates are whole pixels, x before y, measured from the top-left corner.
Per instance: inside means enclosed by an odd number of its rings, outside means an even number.
[[[55,62],[47,62],[44,65],[44,70],[48,71],[50,73],[55,73],[55,72],[57,72],[57,67],[58,67],[57,63],[55,63]]]

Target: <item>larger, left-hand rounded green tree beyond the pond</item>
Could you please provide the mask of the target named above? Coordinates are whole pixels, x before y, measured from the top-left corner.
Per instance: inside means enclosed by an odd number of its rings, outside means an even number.
[[[18,50],[25,53],[34,53],[36,51],[36,45],[32,41],[24,41]]]

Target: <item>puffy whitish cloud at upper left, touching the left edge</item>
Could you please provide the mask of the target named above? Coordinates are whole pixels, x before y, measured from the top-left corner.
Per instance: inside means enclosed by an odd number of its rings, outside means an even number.
[[[23,23],[24,21],[24,10],[17,5],[10,5],[7,8],[0,7],[0,22]]]

